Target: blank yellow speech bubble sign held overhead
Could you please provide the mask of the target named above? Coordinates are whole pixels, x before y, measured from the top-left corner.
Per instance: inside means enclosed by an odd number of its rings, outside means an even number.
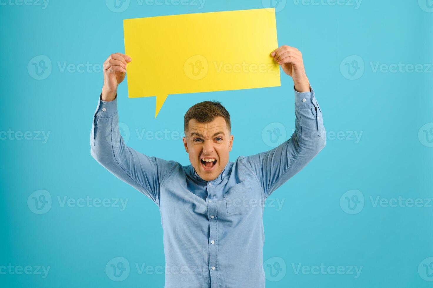
[[[124,19],[129,98],[281,86],[274,9]]]

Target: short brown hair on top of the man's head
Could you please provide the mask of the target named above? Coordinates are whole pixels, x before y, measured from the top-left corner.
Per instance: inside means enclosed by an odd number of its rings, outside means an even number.
[[[200,123],[211,122],[215,117],[222,116],[226,120],[227,127],[229,131],[230,126],[230,114],[226,108],[219,101],[203,101],[195,104],[184,116],[184,132],[188,130],[188,123],[191,119],[197,120]]]

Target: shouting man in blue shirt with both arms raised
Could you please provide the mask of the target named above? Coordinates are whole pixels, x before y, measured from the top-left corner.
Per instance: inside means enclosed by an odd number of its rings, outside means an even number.
[[[229,113],[219,102],[204,101],[184,116],[183,143],[191,162],[187,166],[124,144],[116,90],[132,59],[116,53],[104,62],[91,155],[158,205],[166,288],[265,287],[263,201],[325,146],[322,112],[301,52],[283,45],[271,56],[294,81],[296,129],[291,138],[269,151],[229,162]]]

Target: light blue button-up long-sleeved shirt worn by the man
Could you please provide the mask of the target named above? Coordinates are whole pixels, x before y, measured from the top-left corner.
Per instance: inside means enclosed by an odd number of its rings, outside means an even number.
[[[117,101],[99,100],[90,153],[158,205],[164,231],[165,288],[262,288],[264,201],[325,146],[314,91],[295,94],[296,129],[266,152],[228,162],[213,181],[192,165],[146,156],[123,142]]]

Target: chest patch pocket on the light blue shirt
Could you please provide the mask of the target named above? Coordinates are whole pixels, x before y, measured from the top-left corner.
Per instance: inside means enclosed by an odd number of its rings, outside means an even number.
[[[235,184],[224,194],[228,214],[243,215],[249,211],[250,188],[249,181],[245,180]]]

